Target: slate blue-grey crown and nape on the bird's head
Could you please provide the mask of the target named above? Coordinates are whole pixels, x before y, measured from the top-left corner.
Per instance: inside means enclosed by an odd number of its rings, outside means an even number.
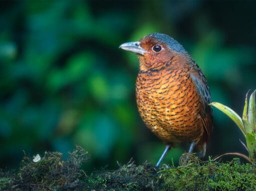
[[[174,50],[176,52],[179,53],[187,53],[187,51],[185,50],[185,48],[183,48],[183,46],[178,43],[176,40],[174,40],[172,37],[170,37],[167,34],[162,34],[162,33],[150,33],[148,34],[148,36],[155,38],[157,41],[162,42],[167,44],[167,47],[170,50]]]

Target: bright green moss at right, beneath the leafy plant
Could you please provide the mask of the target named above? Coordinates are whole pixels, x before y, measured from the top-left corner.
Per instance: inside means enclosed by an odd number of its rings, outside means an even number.
[[[255,191],[255,165],[240,164],[239,159],[230,163],[212,161],[189,163],[159,172],[166,190],[200,191]]]

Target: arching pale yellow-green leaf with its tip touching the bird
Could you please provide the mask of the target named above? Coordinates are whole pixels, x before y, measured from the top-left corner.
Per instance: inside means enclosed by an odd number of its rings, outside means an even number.
[[[215,108],[226,114],[239,127],[243,136],[245,137],[245,130],[243,127],[242,119],[234,110],[218,102],[212,102],[209,105],[214,106]]]

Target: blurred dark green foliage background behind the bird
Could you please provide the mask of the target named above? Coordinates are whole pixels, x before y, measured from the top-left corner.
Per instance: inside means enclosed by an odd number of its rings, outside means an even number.
[[[88,170],[134,158],[156,163],[164,145],[135,102],[136,55],[118,47],[150,32],[173,36],[204,72],[212,100],[239,114],[256,88],[255,1],[0,1],[0,168],[75,145]],[[214,109],[207,155],[246,154],[233,122]],[[177,164],[187,147],[170,151]]]

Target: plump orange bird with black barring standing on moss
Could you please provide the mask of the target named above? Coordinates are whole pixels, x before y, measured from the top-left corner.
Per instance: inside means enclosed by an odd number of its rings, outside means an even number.
[[[211,95],[204,74],[184,47],[167,34],[150,33],[119,48],[136,53],[136,103],[145,125],[171,148],[190,143],[202,158],[213,129]]]

